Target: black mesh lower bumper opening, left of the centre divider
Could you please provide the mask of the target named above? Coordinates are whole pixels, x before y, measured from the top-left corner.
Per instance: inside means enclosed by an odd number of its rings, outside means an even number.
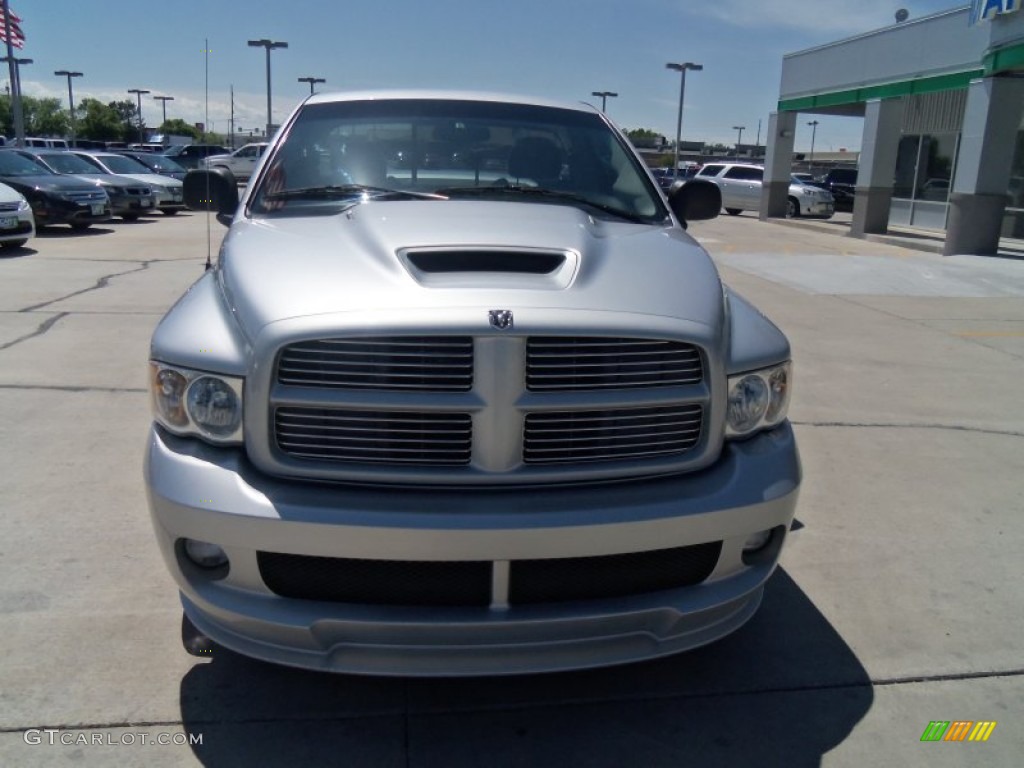
[[[490,562],[422,562],[258,552],[263,582],[301,600],[371,605],[490,603]]]

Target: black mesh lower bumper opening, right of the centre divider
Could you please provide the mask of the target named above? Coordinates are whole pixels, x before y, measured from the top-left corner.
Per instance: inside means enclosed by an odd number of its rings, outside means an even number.
[[[515,560],[509,603],[628,597],[699,584],[715,569],[721,542],[599,557]]]

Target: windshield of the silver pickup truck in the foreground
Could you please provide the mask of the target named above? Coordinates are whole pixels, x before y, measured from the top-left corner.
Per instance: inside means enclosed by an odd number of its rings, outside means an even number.
[[[645,222],[668,215],[646,171],[596,114],[399,98],[304,106],[250,206],[294,215],[409,199],[572,205]]]

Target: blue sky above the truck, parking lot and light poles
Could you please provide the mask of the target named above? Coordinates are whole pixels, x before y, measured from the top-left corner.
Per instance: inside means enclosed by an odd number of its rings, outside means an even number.
[[[226,132],[231,114],[245,130],[266,123],[266,53],[247,41],[288,43],[271,52],[273,121],[318,91],[453,88],[599,104],[622,128],[675,137],[679,73],[686,76],[683,139],[764,142],[778,101],[782,56],[894,23],[966,5],[955,0],[10,0],[22,18],[26,95],[67,104],[142,98],[147,125],[167,117]],[[7,85],[6,68],[0,80]],[[208,85],[207,85],[208,84]],[[818,151],[860,148],[861,121],[820,117]],[[758,130],[761,125],[760,134]],[[796,150],[811,128],[800,121]]]

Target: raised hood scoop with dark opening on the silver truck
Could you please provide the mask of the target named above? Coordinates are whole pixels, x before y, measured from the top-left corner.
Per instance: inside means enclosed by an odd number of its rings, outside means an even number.
[[[532,248],[410,248],[398,258],[420,284],[443,288],[564,289],[580,266],[575,251]]]

